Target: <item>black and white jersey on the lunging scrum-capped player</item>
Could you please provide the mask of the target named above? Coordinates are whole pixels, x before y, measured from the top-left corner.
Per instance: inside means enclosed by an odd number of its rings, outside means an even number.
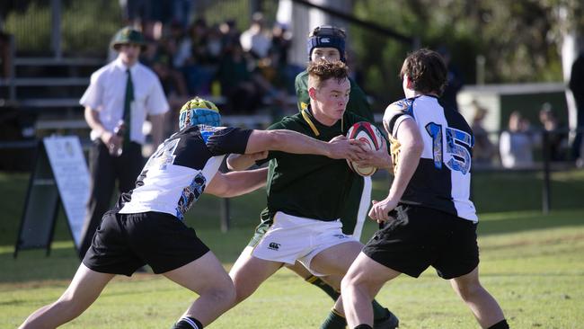
[[[119,213],[164,212],[181,219],[199,200],[226,154],[243,154],[250,129],[192,126],[175,133],[150,156],[136,188],[119,199]]]

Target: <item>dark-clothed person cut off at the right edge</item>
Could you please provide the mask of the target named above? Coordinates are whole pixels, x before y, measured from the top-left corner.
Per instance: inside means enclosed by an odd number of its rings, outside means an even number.
[[[571,66],[570,89],[574,94],[578,113],[576,129],[584,129],[584,46],[581,46],[580,55]],[[582,155],[582,134],[584,134],[584,132],[577,132],[576,138],[574,138],[572,143],[572,156],[579,166],[584,164],[584,156]]]

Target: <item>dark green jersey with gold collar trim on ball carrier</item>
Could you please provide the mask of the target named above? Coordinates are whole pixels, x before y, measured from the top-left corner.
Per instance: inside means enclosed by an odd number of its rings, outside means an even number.
[[[329,141],[345,135],[351,125],[362,120],[353,113],[345,112],[342,120],[327,127],[314,119],[308,109],[285,117],[268,129],[289,129]],[[357,175],[350,171],[346,160],[279,151],[270,151],[268,159],[268,208],[262,213],[262,219],[271,218],[277,211],[324,221],[341,218]]]

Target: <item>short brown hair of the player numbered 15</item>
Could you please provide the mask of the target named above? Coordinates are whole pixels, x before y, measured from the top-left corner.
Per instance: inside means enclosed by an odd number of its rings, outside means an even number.
[[[409,76],[413,90],[441,95],[447,84],[447,67],[438,52],[419,49],[403,61],[400,77]]]

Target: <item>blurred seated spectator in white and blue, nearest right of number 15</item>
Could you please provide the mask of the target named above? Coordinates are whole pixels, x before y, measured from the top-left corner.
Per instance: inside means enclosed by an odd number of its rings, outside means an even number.
[[[535,138],[529,131],[529,121],[518,111],[509,116],[509,128],[500,134],[500,161],[505,168],[523,168],[534,164]]]

